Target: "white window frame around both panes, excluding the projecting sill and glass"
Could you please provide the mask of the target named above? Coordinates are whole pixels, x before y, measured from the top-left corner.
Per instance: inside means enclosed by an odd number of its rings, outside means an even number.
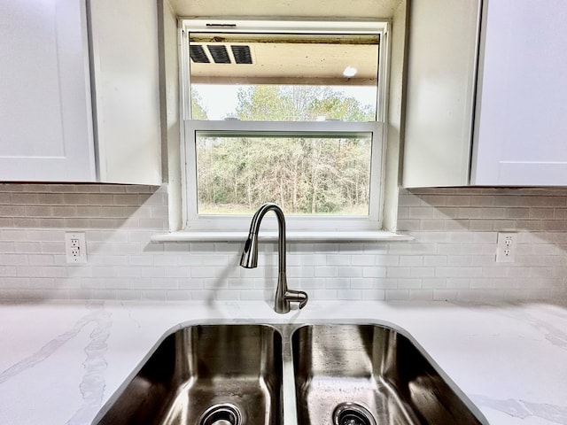
[[[218,26],[231,25],[230,31],[258,33],[348,33],[379,34],[380,49],[378,58],[377,83],[377,120],[371,122],[343,121],[239,121],[239,120],[190,120],[190,75],[189,34],[192,32],[218,32]],[[260,21],[260,20],[215,20],[182,19],[180,20],[180,67],[182,107],[182,190],[183,190],[183,230],[186,232],[239,232],[246,231],[250,225],[248,215],[199,215],[197,193],[197,154],[196,133],[198,131],[237,132],[298,132],[330,134],[372,135],[370,158],[369,215],[367,216],[320,216],[286,215],[288,232],[364,232],[382,229],[384,210],[384,159],[385,131],[387,126],[387,87],[389,58],[388,22],[352,22],[352,21]],[[260,206],[260,205],[258,205]],[[284,211],[285,213],[285,211]],[[268,218],[267,218],[268,219]],[[271,218],[270,218],[271,219]],[[262,228],[276,229],[276,220],[266,220]]]

